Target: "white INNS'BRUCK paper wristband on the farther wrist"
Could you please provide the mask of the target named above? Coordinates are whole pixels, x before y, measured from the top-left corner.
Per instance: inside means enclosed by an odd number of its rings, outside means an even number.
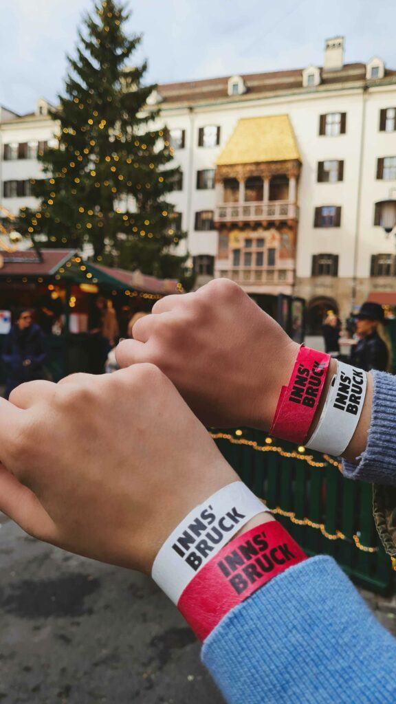
[[[306,447],[335,457],[342,455],[357,428],[366,388],[366,372],[338,362],[318,426]]]

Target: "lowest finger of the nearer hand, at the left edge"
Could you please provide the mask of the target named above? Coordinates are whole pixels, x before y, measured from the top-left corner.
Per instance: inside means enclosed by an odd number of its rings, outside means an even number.
[[[27,486],[0,464],[0,511],[3,511],[24,531],[41,540],[53,541],[56,527],[47,511]]]

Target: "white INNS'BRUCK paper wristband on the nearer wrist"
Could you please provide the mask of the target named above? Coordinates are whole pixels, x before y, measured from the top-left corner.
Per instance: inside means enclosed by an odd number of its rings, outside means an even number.
[[[251,518],[266,510],[242,482],[216,491],[190,511],[163,543],[151,570],[154,582],[177,604],[206,562]]]

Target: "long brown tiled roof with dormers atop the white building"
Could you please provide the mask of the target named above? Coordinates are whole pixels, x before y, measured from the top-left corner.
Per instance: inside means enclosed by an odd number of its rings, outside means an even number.
[[[352,82],[376,85],[388,82],[390,77],[394,77],[396,80],[396,71],[390,69],[385,69],[385,76],[382,79],[366,80],[365,63],[345,63],[340,70],[328,71],[321,68],[321,84],[316,88],[308,89],[302,85],[303,70],[303,68],[296,68],[285,71],[242,74],[246,88],[244,95],[228,96],[228,80],[230,76],[181,81],[178,83],[163,83],[158,86],[158,91],[163,99],[161,106],[166,106],[167,103],[208,102],[219,99],[235,102],[249,99],[252,94],[281,93],[295,90],[304,92],[309,90],[312,92],[318,91],[323,87],[337,87],[337,84],[340,87]]]

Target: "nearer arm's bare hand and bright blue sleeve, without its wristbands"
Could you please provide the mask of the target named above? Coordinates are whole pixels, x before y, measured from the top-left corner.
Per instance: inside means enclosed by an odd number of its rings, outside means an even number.
[[[180,520],[237,479],[151,365],[31,382],[11,400],[0,399],[0,508],[31,535],[89,558],[149,573]],[[391,704],[395,657],[395,641],[331,558],[275,577],[203,649],[234,704]]]

